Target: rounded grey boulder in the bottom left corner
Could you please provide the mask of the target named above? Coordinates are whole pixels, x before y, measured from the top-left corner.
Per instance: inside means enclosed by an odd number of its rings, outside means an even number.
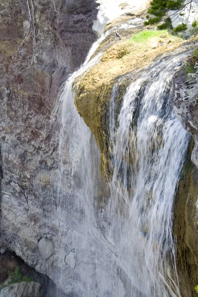
[[[35,282],[12,284],[0,291],[0,297],[41,297],[41,285]]]

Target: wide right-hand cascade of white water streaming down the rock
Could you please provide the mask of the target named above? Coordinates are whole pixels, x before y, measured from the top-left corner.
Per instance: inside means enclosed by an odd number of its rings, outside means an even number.
[[[175,116],[170,88],[181,59],[155,61],[142,71],[124,96],[117,131],[116,85],[111,96],[109,237],[127,265],[134,286],[129,296],[180,296],[172,210],[189,135]],[[174,280],[169,265],[175,269]]]

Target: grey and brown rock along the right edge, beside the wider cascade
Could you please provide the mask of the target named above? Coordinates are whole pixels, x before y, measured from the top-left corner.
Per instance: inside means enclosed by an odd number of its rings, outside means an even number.
[[[198,108],[194,100],[181,97],[187,86],[185,67],[173,79],[172,99],[177,117],[193,140],[189,146],[174,207],[174,234],[177,238],[177,267],[183,296],[196,297],[198,280]]]

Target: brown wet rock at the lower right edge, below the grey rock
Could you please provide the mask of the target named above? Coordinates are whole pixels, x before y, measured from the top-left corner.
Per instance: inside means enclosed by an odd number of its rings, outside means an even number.
[[[177,272],[180,292],[185,297],[196,297],[194,287],[198,276],[198,169],[191,161],[192,140],[174,203],[173,232],[177,238]]]

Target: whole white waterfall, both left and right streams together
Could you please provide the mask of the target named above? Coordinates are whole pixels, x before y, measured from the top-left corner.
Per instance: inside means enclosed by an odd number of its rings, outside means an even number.
[[[114,170],[105,185],[99,148],[75,108],[72,84],[99,62],[101,52],[91,57],[108,34],[93,45],[61,95],[59,284],[78,297],[179,297],[173,202],[189,135],[170,98],[172,76],[185,54],[132,73],[119,115],[122,79],[114,86],[107,123]],[[110,195],[99,209],[102,187]]]

